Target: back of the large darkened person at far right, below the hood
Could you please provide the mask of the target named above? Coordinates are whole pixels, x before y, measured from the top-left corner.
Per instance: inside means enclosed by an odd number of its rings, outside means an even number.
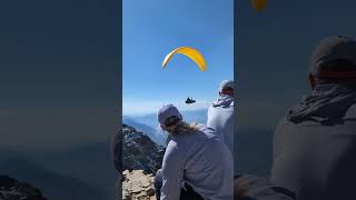
[[[295,191],[303,200],[354,193],[356,104],[344,120],[335,126],[283,121],[275,132],[271,181]]]

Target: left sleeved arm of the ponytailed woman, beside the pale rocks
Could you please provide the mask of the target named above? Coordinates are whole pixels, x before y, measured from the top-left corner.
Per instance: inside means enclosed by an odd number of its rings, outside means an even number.
[[[179,200],[184,164],[176,146],[169,144],[162,161],[162,188],[160,200]]]

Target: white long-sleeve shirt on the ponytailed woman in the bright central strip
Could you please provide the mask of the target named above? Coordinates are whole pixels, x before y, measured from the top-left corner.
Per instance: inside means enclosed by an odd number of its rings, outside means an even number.
[[[233,158],[212,129],[172,136],[162,161],[161,200],[179,200],[181,182],[208,200],[233,200]]]

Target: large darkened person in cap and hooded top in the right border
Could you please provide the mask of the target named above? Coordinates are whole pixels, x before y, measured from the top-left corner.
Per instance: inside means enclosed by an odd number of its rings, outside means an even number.
[[[309,84],[276,127],[271,182],[300,200],[356,199],[356,41],[323,40]]]

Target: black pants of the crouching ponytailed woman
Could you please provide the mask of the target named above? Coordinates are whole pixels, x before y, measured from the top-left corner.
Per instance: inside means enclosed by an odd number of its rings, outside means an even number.
[[[162,173],[160,170],[157,171],[155,178],[155,191],[157,200],[160,199],[160,188],[162,187]],[[192,190],[192,188],[186,183],[185,189],[180,189],[180,200],[202,200],[202,198]]]

